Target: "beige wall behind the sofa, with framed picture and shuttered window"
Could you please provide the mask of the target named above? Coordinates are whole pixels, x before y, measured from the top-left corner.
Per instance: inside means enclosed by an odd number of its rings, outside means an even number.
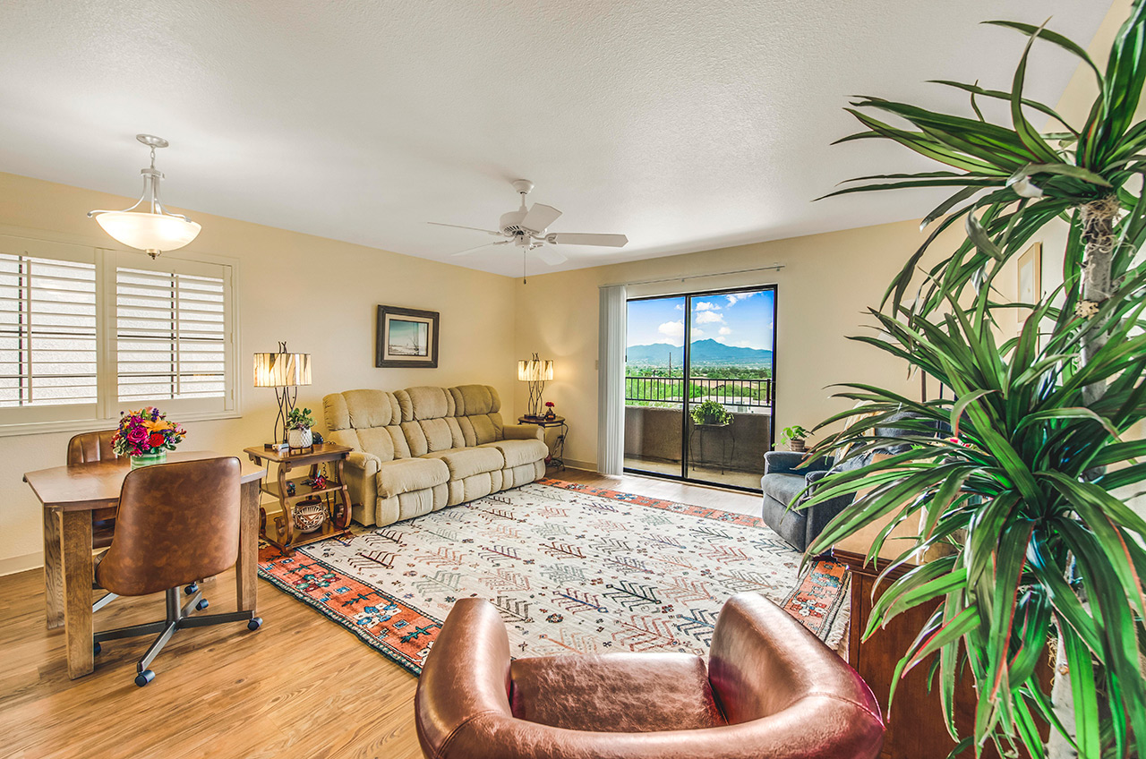
[[[0,173],[0,226],[30,236],[111,248],[113,241],[85,214],[132,202]],[[202,213],[193,218],[203,232],[189,250],[238,261],[242,416],[187,424],[188,449],[238,454],[270,437],[274,392],[251,386],[250,357],[275,350],[278,341],[311,353],[314,384],[300,389],[298,402],[315,409],[320,418],[323,394],[353,388],[480,382],[497,388],[512,404],[513,280],[234,219]],[[441,312],[438,369],[375,368],[378,304]],[[21,476],[63,463],[68,438],[66,433],[0,438],[0,573],[40,564],[40,509]]]

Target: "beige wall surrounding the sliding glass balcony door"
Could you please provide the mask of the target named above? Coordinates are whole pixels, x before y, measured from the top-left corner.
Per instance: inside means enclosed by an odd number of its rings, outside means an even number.
[[[597,457],[597,289],[602,284],[673,277],[631,287],[630,297],[775,284],[778,430],[792,424],[810,428],[849,408],[851,401],[830,398],[832,383],[880,384],[918,398],[918,380],[906,378],[903,362],[887,360],[847,336],[861,334],[857,326],[871,322],[864,319],[866,307],[879,303],[887,283],[923,240],[918,224],[904,221],[531,276],[527,284],[518,281],[516,285],[517,352],[536,351],[554,359],[554,381],[545,398],[571,420],[567,461],[583,465],[595,465]],[[772,264],[784,268],[719,275]],[[696,275],[705,276],[680,279]],[[524,383],[519,384],[518,410],[525,408]],[[934,382],[929,392],[935,392]]]

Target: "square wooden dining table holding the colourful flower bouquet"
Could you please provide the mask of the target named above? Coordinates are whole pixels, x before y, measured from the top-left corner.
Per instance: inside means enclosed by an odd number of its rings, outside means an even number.
[[[174,451],[167,462],[218,459],[213,451]],[[242,461],[238,558],[235,589],[240,611],[256,611],[259,566],[259,482],[266,467]],[[94,580],[92,511],[116,507],[127,459],[68,464],[24,475],[44,504],[44,589],[47,626],[63,626],[68,642],[68,675],[73,680],[94,668],[92,582]]]

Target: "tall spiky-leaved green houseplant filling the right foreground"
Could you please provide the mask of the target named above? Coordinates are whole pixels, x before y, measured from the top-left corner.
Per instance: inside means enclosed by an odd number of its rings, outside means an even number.
[[[932,234],[908,258],[880,310],[871,311],[880,336],[854,339],[926,371],[957,400],[915,401],[878,386],[846,386],[840,396],[859,408],[821,427],[853,415],[859,421],[825,436],[816,452],[845,449],[850,457],[909,447],[819,482],[808,506],[858,496],[808,553],[889,516],[888,530],[918,525],[901,561],[918,548],[952,545],[953,554],[887,588],[865,633],[906,609],[937,604],[900,670],[937,655],[934,687],[952,735],[955,682],[960,671],[971,673],[974,731],[956,737],[959,748],[976,752],[990,741],[1004,756],[1021,745],[1033,757],[1091,759],[1139,756],[1146,744],[1138,644],[1146,522],[1122,501],[1125,488],[1146,479],[1146,441],[1125,437],[1146,417],[1146,266],[1138,257],[1146,193],[1135,181],[1146,170],[1146,123],[1135,120],[1146,79],[1144,7],[1144,0],[1133,2],[1105,72],[1061,34],[989,22],[1029,39],[1010,92],[940,83],[967,92],[973,116],[878,97],[849,109],[866,128],[847,140],[892,140],[944,167],[866,177],[833,194],[953,190],[927,214]],[[1099,94],[1084,123],[1072,125],[1023,96],[1036,41],[1069,50],[1093,71]],[[1007,102],[1010,123],[987,120],[979,108],[984,99]],[[1036,116],[1057,119],[1061,131],[1039,133],[1028,120]],[[1063,285],[1035,304],[997,299],[992,284],[1003,267],[1057,219],[1069,224]],[[920,271],[939,234],[960,220],[965,241]],[[1014,307],[1027,310],[1020,335],[997,336],[998,313]],[[896,423],[900,437],[877,433],[902,410],[915,418]],[[1049,647],[1057,664],[1051,693],[1036,676]],[[1045,745],[1038,720],[1051,725]]]

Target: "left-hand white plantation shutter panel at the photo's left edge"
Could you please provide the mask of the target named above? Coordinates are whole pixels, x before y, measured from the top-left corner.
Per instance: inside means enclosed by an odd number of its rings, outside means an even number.
[[[91,248],[0,236],[0,423],[95,415]]]

